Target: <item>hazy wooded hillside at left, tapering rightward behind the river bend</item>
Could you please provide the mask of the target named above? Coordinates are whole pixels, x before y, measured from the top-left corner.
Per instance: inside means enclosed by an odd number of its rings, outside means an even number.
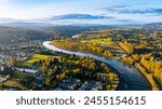
[[[42,26],[35,24],[12,24],[0,26],[0,43],[13,43],[32,40],[51,40],[53,37],[72,37],[87,30],[99,30],[109,26]]]

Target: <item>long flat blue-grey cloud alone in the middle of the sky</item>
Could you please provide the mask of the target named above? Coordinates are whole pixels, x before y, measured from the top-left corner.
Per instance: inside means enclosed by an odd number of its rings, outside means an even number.
[[[112,16],[91,15],[91,14],[65,14],[52,17],[52,19],[104,19],[114,18]]]

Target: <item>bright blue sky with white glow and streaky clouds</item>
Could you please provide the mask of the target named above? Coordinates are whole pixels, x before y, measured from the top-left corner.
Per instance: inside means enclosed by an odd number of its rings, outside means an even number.
[[[162,0],[0,0],[0,23],[148,24],[162,22]]]

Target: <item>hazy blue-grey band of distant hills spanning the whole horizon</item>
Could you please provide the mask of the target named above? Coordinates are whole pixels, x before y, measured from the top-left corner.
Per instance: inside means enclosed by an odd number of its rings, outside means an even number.
[[[0,26],[0,43],[13,43],[31,40],[51,40],[53,37],[72,37],[89,30],[112,29],[123,36],[134,36],[137,32],[152,36],[156,30],[162,30],[162,23],[151,23],[146,25],[62,25],[39,23],[10,23]],[[157,31],[156,31],[157,32]]]

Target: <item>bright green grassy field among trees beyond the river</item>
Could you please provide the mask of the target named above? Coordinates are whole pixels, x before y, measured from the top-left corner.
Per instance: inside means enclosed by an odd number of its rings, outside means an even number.
[[[82,40],[81,43],[95,43],[95,44],[100,44],[100,45],[109,45],[111,44],[110,39],[91,39],[91,40]]]

